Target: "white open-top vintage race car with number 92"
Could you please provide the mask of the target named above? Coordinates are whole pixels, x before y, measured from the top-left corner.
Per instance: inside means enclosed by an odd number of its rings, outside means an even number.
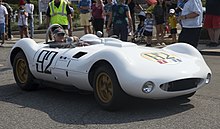
[[[29,38],[17,41],[9,57],[17,85],[34,90],[39,81],[47,81],[93,91],[102,108],[114,110],[127,95],[188,98],[211,80],[200,52],[185,43],[142,47],[93,34],[80,41],[90,45],[57,48]]]

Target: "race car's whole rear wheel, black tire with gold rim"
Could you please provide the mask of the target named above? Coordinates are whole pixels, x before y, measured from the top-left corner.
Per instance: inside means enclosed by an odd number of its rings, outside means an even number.
[[[22,90],[37,89],[38,84],[34,83],[34,76],[30,72],[26,56],[22,51],[18,52],[14,58],[13,73],[17,85]]]

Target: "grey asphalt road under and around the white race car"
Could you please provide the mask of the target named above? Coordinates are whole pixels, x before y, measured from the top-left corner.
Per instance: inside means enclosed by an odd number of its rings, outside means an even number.
[[[0,129],[220,128],[220,56],[204,56],[212,81],[189,100],[132,99],[124,109],[107,112],[99,108],[93,94],[50,87],[20,90],[7,64],[9,50],[0,48]]]

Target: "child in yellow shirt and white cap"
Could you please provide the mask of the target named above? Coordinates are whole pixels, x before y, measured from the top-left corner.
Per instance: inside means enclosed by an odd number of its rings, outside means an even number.
[[[170,9],[169,14],[170,15],[168,17],[168,24],[169,24],[169,27],[170,27],[172,42],[175,43],[176,42],[176,34],[177,34],[177,18],[176,18],[176,15],[175,15],[175,10]]]

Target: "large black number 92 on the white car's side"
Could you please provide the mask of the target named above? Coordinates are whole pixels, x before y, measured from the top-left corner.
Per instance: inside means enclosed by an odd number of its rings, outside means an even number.
[[[37,57],[36,70],[40,73],[51,74],[49,67],[51,66],[58,52],[43,50]]]

